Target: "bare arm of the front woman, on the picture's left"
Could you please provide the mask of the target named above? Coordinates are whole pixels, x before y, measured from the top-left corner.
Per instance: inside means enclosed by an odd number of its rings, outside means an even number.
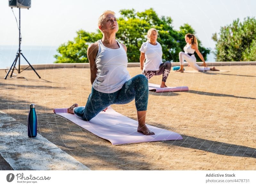
[[[91,70],[91,83],[94,82],[94,80],[97,77],[97,67],[95,64],[95,58],[97,56],[99,50],[98,43],[92,43],[87,49],[87,57],[90,63],[90,70]]]

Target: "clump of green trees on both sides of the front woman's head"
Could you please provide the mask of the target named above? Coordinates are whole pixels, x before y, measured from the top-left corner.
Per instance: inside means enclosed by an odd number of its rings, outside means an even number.
[[[121,10],[120,18],[118,18],[119,31],[116,38],[120,43],[127,46],[127,56],[129,62],[139,62],[140,46],[147,40],[147,32],[150,28],[156,28],[159,33],[158,42],[163,48],[163,60],[179,61],[179,52],[183,51],[186,45],[184,36],[187,33],[195,34],[194,29],[185,24],[180,30],[173,30],[171,17],[159,16],[150,8],[144,12],[135,12],[131,10]],[[86,50],[89,44],[101,39],[100,31],[89,33],[83,30],[77,32],[74,41],[62,44],[55,55],[56,63],[84,63],[88,62]],[[198,39],[198,38],[197,38]],[[204,48],[199,42],[199,50],[203,54],[205,60],[210,50]],[[201,59],[197,57],[197,60]]]

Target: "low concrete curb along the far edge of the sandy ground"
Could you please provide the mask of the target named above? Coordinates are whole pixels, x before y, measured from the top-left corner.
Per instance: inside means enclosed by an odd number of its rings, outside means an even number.
[[[199,66],[203,62],[196,62]],[[256,65],[256,61],[234,61],[234,62],[206,62],[208,66],[231,66],[231,65]],[[89,63],[54,63],[54,64],[31,64],[35,69],[52,69],[52,68],[90,68]],[[172,66],[180,66],[179,62],[172,62]],[[188,66],[185,63],[185,66]],[[20,65],[21,69],[27,68],[28,65]],[[140,67],[140,63],[128,63],[128,67]],[[6,68],[1,68],[6,69]],[[31,68],[28,68],[32,70]]]

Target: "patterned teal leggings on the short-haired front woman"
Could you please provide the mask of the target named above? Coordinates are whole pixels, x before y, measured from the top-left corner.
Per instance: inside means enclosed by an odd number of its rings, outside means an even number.
[[[146,111],[148,106],[148,79],[139,74],[126,81],[122,89],[114,93],[102,93],[92,88],[85,107],[77,107],[74,112],[89,121],[112,104],[127,104],[135,98],[137,111]]]

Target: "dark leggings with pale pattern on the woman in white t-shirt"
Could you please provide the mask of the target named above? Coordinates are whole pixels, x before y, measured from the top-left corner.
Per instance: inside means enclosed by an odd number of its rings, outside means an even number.
[[[165,61],[164,63],[162,63],[160,66],[159,66],[159,70],[157,71],[151,71],[151,70],[144,70],[142,72],[142,74],[144,74],[148,80],[153,77],[154,75],[161,75],[163,74],[163,79],[162,81],[166,82],[166,79],[170,73],[170,70],[171,70],[171,67],[172,67],[172,64],[170,61]]]

